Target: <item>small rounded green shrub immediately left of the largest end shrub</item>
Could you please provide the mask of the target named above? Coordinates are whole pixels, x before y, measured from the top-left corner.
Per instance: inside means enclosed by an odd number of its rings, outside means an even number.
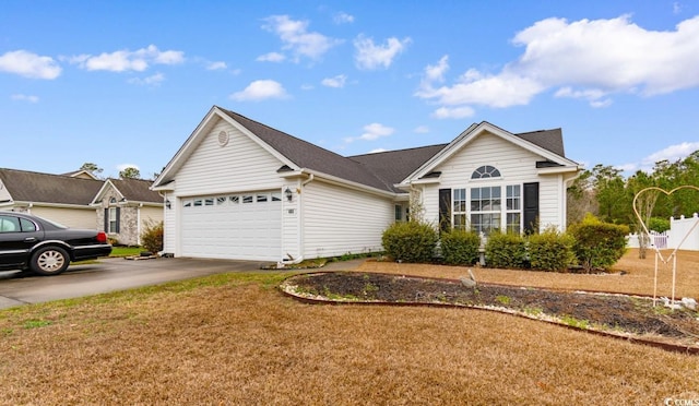
[[[565,272],[576,263],[572,236],[547,228],[541,234],[529,236],[529,260],[532,268]]]

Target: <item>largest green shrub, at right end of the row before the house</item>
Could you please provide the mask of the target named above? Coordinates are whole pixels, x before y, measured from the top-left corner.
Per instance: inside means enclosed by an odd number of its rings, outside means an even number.
[[[626,252],[627,226],[603,223],[588,213],[585,218],[570,227],[574,237],[573,251],[578,263],[590,272],[594,268],[608,268]]]

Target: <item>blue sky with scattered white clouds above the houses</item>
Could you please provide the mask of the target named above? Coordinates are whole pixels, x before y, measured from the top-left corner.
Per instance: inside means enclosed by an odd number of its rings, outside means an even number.
[[[0,167],[151,178],[213,105],[342,155],[562,128],[629,175],[699,150],[699,0],[0,5]]]

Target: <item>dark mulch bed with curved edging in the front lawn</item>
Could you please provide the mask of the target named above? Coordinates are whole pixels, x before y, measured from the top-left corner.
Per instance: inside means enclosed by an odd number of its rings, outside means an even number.
[[[645,297],[559,291],[378,273],[317,273],[293,277],[284,290],[348,302],[439,303],[487,308],[584,330],[699,349],[699,312],[672,310]]]

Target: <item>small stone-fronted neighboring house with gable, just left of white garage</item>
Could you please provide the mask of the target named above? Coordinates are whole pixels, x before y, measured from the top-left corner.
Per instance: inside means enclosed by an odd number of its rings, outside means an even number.
[[[107,179],[94,196],[97,224],[119,244],[140,246],[141,235],[163,220],[163,198],[141,179]]]

